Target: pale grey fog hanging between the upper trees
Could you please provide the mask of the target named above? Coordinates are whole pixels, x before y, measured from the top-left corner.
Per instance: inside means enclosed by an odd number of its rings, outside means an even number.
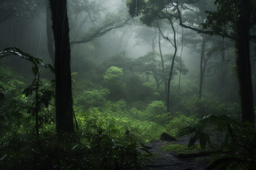
[[[47,42],[46,21],[50,18],[46,17],[45,4],[39,3],[36,7],[38,8],[37,11],[29,11],[31,9],[23,6],[20,10],[17,10],[16,16],[6,16],[7,18],[0,24],[0,47],[4,49],[16,46],[26,53],[42,58],[45,63],[53,64],[47,49],[47,43],[51,40]],[[32,12],[33,14],[29,14]],[[20,15],[24,17],[20,17]],[[173,55],[175,51],[173,47],[174,34],[168,21],[159,20],[159,22],[161,21],[159,26],[162,32],[162,35],[159,36],[157,25],[149,27],[140,22],[140,17],[130,17],[124,0],[68,1],[68,17],[72,48],[72,71],[79,72],[78,74],[83,72],[85,66],[90,66],[90,62],[93,60],[94,62],[106,62],[110,57],[121,51],[125,51],[126,57],[132,60],[144,56],[152,50],[159,53],[159,41],[162,54],[169,53]],[[176,31],[176,57],[182,60],[184,66],[188,69],[188,73],[182,75],[181,79],[179,76],[174,76],[172,81],[183,81],[182,79],[184,79],[184,81],[192,81],[194,86],[198,86],[200,79],[200,40],[202,36],[195,31],[182,28],[178,25],[177,20],[174,20],[173,25]],[[107,29],[110,30],[106,31]],[[106,32],[100,35],[94,32],[95,30],[98,30],[98,33]],[[214,43],[222,41],[222,38],[208,37],[204,59],[206,68],[210,63],[219,60],[218,57],[221,58],[221,52],[216,49],[218,47],[214,47],[216,46]],[[87,39],[89,40],[87,41]],[[72,43],[82,40],[85,40],[85,42]],[[234,64],[233,52],[234,46],[232,45],[223,51],[225,56],[222,56],[222,58],[229,61],[225,64],[226,67],[232,63]],[[15,63],[16,59],[13,62]],[[230,68],[227,68],[227,70],[229,70],[227,74],[233,74]],[[213,72],[213,70],[208,69],[208,73],[206,71],[204,75],[203,88],[209,91],[207,93],[216,93],[210,92],[213,89],[218,91],[218,87],[214,87],[216,85],[214,82],[218,79],[214,80]],[[236,90],[235,88],[234,91]],[[223,90],[219,89],[219,91]],[[234,94],[237,94],[237,92],[234,92]],[[204,97],[209,97],[208,95],[205,94]],[[213,98],[216,100],[218,98],[216,97]],[[238,102],[233,97],[232,101]]]

